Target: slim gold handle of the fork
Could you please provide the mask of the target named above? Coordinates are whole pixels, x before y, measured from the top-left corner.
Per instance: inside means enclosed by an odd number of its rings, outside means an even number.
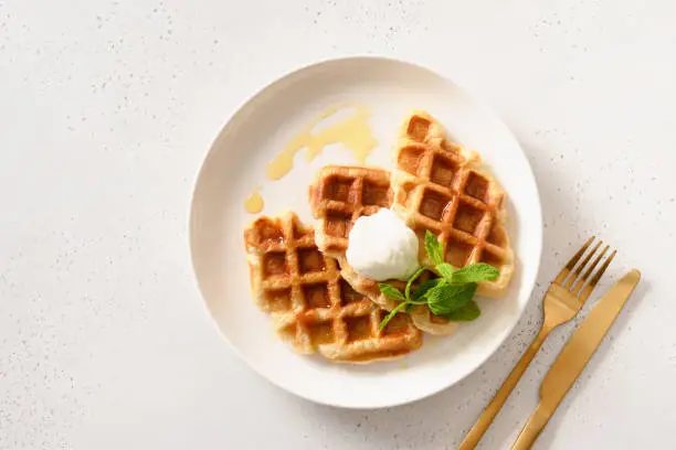
[[[505,405],[507,398],[509,398],[509,394],[511,394],[519,383],[519,379],[521,379],[524,372],[526,372],[528,365],[538,353],[538,350],[542,346],[542,342],[545,342],[550,332],[551,328],[549,326],[542,326],[540,329],[540,332],[528,350],[526,350],[526,353],[524,353],[517,365],[514,366],[488,406],[486,406],[486,409],[484,409],[484,413],[482,413],[476,424],[474,424],[463,442],[460,444],[458,450],[472,450],[477,446],[479,440],[482,440],[482,437],[486,430],[488,430],[490,424],[493,424],[493,419],[495,419],[495,416],[498,415],[500,408],[503,408],[503,405]]]

